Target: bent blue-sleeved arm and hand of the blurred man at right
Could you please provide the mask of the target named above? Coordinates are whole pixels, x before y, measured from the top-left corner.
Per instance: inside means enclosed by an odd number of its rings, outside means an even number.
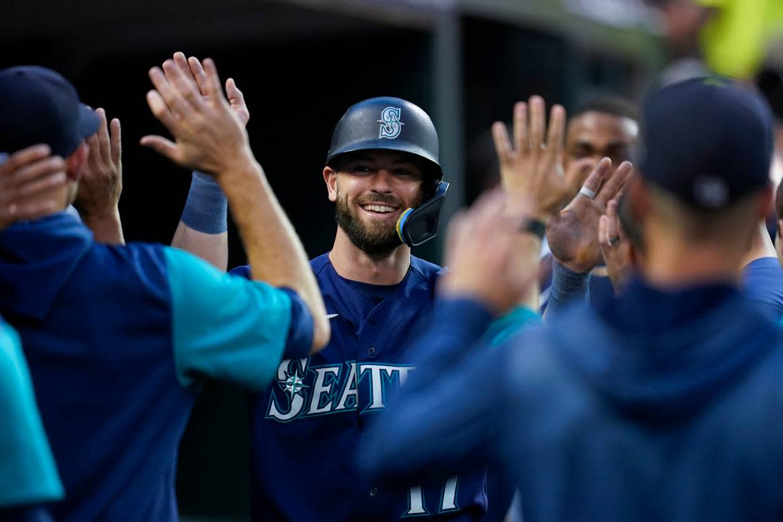
[[[505,418],[505,360],[480,339],[493,315],[529,290],[538,267],[518,259],[518,223],[502,209],[502,194],[485,195],[449,225],[452,269],[439,287],[433,326],[411,350],[416,371],[367,437],[363,466],[371,477],[446,477],[486,466],[493,455]]]

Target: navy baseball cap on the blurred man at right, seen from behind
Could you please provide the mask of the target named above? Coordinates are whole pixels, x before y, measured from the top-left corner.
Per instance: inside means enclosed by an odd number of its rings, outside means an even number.
[[[770,184],[772,115],[738,81],[701,77],[660,89],[641,135],[642,178],[692,207],[718,210]]]

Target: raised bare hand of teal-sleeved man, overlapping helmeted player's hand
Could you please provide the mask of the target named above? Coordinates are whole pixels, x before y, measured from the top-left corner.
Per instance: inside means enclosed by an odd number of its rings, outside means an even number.
[[[150,70],[155,89],[147,93],[147,103],[175,142],[147,135],[142,145],[177,164],[215,175],[218,181],[226,173],[254,164],[247,132],[223,95],[215,63],[204,59],[206,95],[201,95],[197,82],[173,60],[167,59],[163,67],[165,74],[158,67]]]

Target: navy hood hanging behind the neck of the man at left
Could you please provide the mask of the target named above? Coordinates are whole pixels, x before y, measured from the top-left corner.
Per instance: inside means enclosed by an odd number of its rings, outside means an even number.
[[[66,212],[0,232],[0,311],[42,321],[92,245],[92,233]]]

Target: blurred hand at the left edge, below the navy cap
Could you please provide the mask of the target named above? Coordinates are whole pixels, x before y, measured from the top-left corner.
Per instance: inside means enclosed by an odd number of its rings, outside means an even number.
[[[51,153],[48,145],[35,145],[0,163],[0,230],[15,221],[62,210],[66,165],[63,158],[49,156]]]

